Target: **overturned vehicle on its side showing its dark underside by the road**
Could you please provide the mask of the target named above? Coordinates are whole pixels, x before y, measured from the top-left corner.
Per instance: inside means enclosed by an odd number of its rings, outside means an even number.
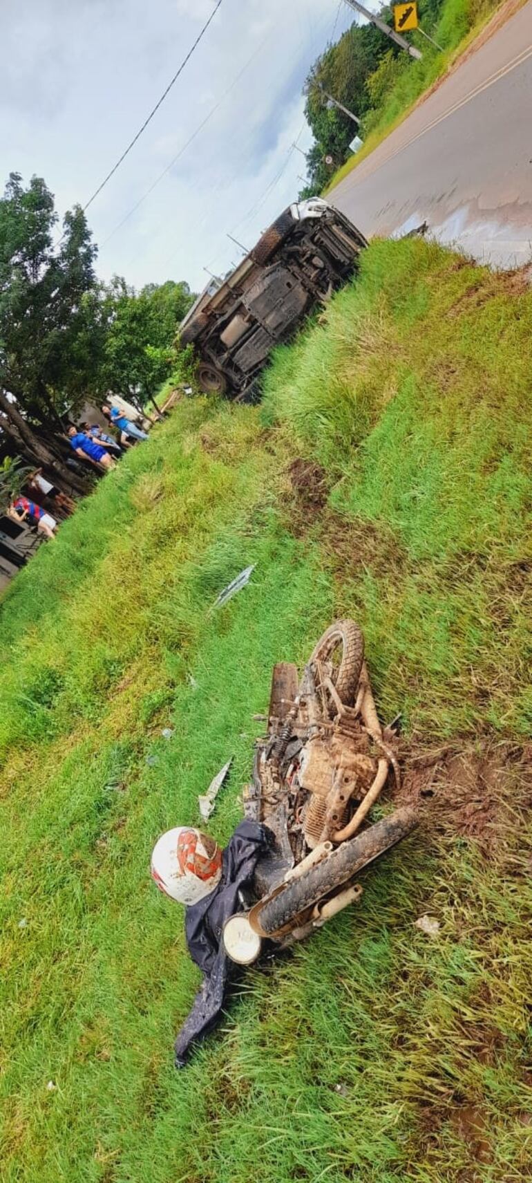
[[[288,206],[223,280],[213,279],[180,327],[206,393],[252,397],[273,345],[356,271],[366,240],[322,198]]]

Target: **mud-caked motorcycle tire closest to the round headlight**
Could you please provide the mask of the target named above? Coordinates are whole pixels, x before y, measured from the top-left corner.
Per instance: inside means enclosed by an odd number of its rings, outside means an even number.
[[[381,854],[396,846],[417,825],[415,809],[408,807],[396,809],[394,814],[377,821],[375,826],[342,842],[332,853],[310,867],[300,879],[293,879],[273,899],[255,912],[255,920],[264,936],[272,937],[275,932],[293,924],[301,912],[313,907],[330,892],[342,887],[363,867],[378,859]]]

